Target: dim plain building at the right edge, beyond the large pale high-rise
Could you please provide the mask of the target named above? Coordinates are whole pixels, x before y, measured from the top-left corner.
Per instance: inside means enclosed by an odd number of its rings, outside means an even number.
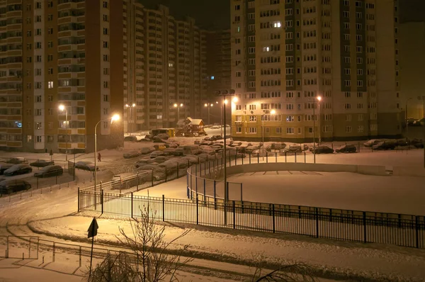
[[[425,22],[401,23],[399,30],[404,115],[407,114],[407,118],[425,118]]]

